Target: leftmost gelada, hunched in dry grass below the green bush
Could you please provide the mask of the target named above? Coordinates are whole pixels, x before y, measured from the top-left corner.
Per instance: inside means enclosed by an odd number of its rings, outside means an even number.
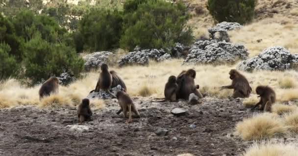
[[[46,80],[39,89],[39,99],[44,96],[50,96],[50,94],[58,93],[59,91],[59,80],[56,77],[50,77]]]

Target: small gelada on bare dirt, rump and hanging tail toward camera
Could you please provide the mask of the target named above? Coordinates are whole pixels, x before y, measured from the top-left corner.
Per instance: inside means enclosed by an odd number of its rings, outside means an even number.
[[[137,110],[137,108],[135,107],[135,105],[133,104],[132,99],[129,97],[128,94],[126,94],[123,91],[119,91],[116,94],[116,97],[118,99],[119,105],[121,107],[121,109],[117,112],[117,114],[119,115],[122,111],[123,111],[123,115],[126,118],[127,117],[127,110],[128,110],[128,120],[126,122],[131,122],[132,118],[131,118],[131,111],[137,115],[138,117],[140,117],[140,114]]]

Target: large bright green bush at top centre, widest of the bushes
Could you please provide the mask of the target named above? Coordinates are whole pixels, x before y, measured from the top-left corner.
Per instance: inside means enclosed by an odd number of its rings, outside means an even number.
[[[192,30],[186,25],[189,16],[184,4],[164,0],[134,1],[126,6],[130,12],[124,15],[124,34],[120,40],[122,48],[132,50],[136,45],[167,48],[176,42],[187,45],[193,41]]]

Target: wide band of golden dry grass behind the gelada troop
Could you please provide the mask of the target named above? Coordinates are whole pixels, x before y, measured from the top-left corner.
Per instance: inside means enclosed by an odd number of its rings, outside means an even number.
[[[182,70],[193,68],[197,72],[196,83],[200,85],[200,92],[210,97],[227,98],[232,95],[232,90],[220,91],[220,86],[229,85],[228,72],[235,68],[235,65],[183,65],[182,59],[173,59],[160,63],[149,62],[149,66],[126,66],[123,68],[110,67],[123,78],[128,94],[131,97],[163,97],[164,86],[169,76],[177,76]],[[216,72],[215,72],[216,71]],[[254,73],[241,72],[248,78],[252,88],[252,95],[245,99],[244,105],[254,105],[258,98],[255,95],[255,88],[258,85],[271,86],[277,95],[278,101],[288,101],[298,98],[298,87],[285,89],[281,88],[280,81],[285,77],[298,79],[298,72],[291,71],[257,71]],[[78,105],[82,98],[86,98],[96,86],[99,71],[90,72],[85,78],[79,79],[68,86],[60,86],[59,93],[62,98],[71,98],[73,105]],[[25,87],[17,80],[9,79],[0,83],[0,107],[6,108],[15,105],[40,103],[38,97],[39,86]],[[8,98],[9,97],[9,98]]]

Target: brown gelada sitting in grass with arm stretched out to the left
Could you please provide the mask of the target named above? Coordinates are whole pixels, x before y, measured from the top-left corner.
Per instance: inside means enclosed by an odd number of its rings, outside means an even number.
[[[232,95],[233,98],[248,98],[251,93],[251,87],[249,86],[248,80],[235,69],[230,70],[229,75],[232,84],[221,87],[221,90],[234,89]]]

